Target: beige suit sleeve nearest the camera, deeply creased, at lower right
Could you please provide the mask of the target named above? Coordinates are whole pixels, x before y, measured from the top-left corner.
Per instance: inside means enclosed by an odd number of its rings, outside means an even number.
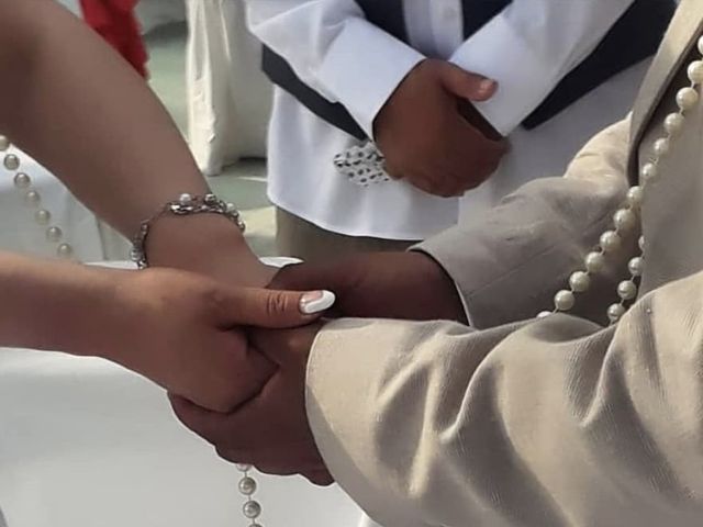
[[[617,327],[341,321],[308,412],[337,482],[387,526],[700,525],[703,274]]]

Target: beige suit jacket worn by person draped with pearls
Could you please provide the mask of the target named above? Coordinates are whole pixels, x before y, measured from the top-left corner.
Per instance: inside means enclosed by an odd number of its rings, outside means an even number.
[[[472,328],[341,321],[321,333],[311,424],[376,520],[703,525],[703,102],[648,190],[647,269],[628,314],[603,323],[624,250],[573,316],[518,322],[550,309],[610,228],[702,30],[703,0],[683,0],[632,120],[596,136],[565,178],[527,184],[481,225],[422,247],[459,284]]]

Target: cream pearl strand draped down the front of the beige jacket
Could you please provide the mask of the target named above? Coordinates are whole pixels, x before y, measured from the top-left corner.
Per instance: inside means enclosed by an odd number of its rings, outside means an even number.
[[[698,49],[703,55],[703,37],[698,41]],[[701,100],[703,60],[692,61],[687,72],[691,83],[677,92],[676,100],[679,111],[670,113],[663,120],[663,134],[655,141],[649,158],[639,172],[640,184],[629,188],[625,203],[613,215],[613,228],[601,235],[598,249],[585,256],[583,268],[569,277],[569,288],[557,292],[554,298],[554,310],[543,311],[537,315],[538,318],[571,311],[576,305],[577,295],[589,290],[591,278],[605,266],[606,257],[623,246],[625,236],[636,231],[641,232],[639,214],[648,183],[659,176],[661,160],[669,155],[672,142],[683,132],[687,113],[695,108]],[[620,322],[627,307],[637,298],[638,282],[645,269],[645,238],[643,236],[639,237],[638,246],[639,255],[633,257],[627,266],[629,277],[617,285],[620,301],[607,307],[607,317],[611,324]]]

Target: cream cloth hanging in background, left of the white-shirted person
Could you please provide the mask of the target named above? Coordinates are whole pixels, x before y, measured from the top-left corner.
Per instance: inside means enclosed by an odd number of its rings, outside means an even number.
[[[241,157],[266,155],[272,88],[242,0],[188,0],[189,139],[207,175]]]

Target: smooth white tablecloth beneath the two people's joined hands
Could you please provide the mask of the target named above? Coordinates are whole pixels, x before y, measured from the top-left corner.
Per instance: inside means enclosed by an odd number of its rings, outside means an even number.
[[[0,349],[9,527],[245,527],[238,478],[138,375],[100,359]],[[356,525],[358,509],[336,487],[259,480],[268,527]]]

